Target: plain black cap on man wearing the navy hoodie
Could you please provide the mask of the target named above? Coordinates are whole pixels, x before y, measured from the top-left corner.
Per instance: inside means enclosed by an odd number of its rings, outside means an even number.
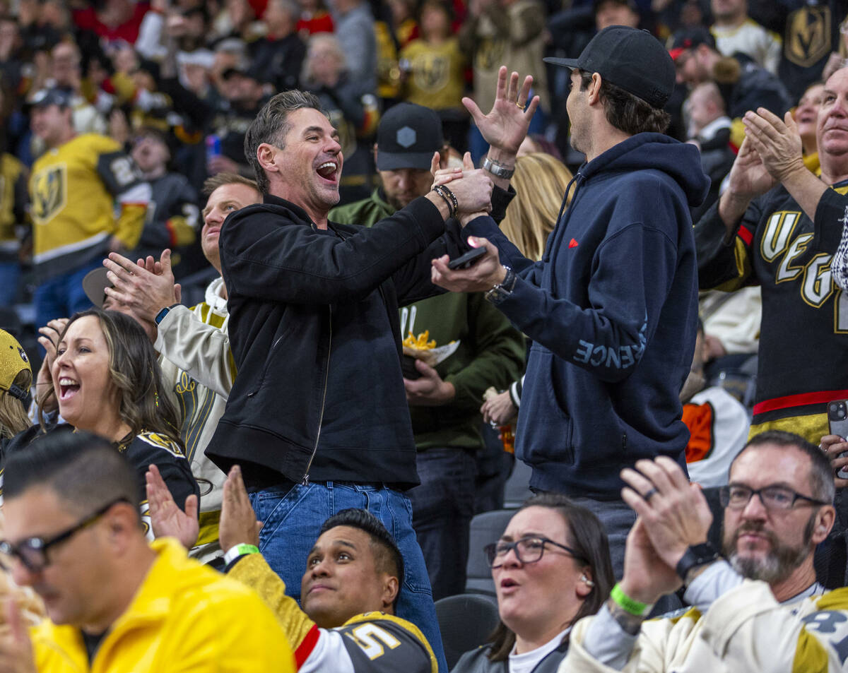
[[[544,58],[545,63],[596,72],[605,81],[663,108],[676,72],[668,52],[648,31],[611,25],[595,35],[579,58]]]

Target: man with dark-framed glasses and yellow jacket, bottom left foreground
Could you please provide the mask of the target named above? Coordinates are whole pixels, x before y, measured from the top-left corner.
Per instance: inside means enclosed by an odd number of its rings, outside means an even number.
[[[134,470],[109,442],[59,431],[8,457],[0,552],[49,619],[0,629],[0,673],[291,673],[274,615],[243,584],[148,546]]]

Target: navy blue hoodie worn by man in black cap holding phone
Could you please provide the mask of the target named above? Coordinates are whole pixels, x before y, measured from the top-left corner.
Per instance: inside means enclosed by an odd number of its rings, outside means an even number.
[[[516,430],[530,485],[617,499],[636,460],[685,464],[678,393],[698,316],[689,206],[709,179],[695,147],[640,133],[583,164],[573,186],[540,262],[487,218],[466,232],[518,273],[499,309],[533,340]]]

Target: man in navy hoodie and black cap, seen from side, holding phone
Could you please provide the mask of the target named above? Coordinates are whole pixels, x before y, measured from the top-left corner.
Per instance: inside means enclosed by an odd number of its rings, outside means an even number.
[[[516,453],[533,467],[530,487],[564,492],[599,515],[621,576],[636,515],[619,472],[659,455],[684,465],[678,393],[698,315],[689,207],[709,181],[695,147],[661,135],[675,71],[650,34],[611,26],[580,58],[545,60],[572,69],[566,108],[587,163],[568,187],[571,206],[535,264],[490,218],[466,216],[470,244],[488,254],[462,271],[435,259],[432,275],[450,290],[488,292],[533,340]],[[501,96],[488,115],[469,109],[484,136],[497,135],[499,106],[523,103]],[[514,159],[500,152],[497,161],[508,178]]]

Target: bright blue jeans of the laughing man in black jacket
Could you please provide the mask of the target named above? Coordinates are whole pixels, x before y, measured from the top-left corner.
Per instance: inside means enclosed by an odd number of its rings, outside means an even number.
[[[264,523],[259,551],[286,582],[286,593],[300,599],[306,558],[321,524],[342,509],[367,509],[382,521],[404,558],[404,586],[398,616],[421,629],[432,647],[440,673],[447,673],[442,636],[421,548],[412,529],[412,505],[403,493],[379,485],[323,481],[291,489],[269,487],[249,493],[256,517]]]

